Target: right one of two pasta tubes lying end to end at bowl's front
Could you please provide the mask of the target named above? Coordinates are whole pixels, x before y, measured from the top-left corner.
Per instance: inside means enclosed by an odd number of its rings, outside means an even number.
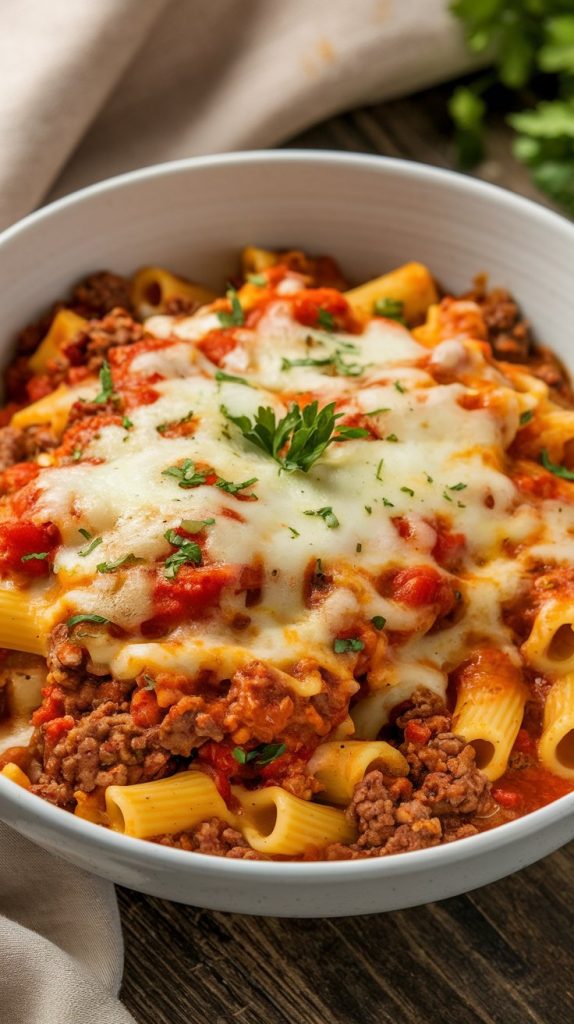
[[[300,800],[278,785],[254,793],[236,788],[234,795],[246,814],[244,836],[259,853],[297,856],[354,837],[343,811]]]

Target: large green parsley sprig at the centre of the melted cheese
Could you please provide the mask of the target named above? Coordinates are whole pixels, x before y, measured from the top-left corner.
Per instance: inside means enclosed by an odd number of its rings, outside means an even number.
[[[253,423],[248,416],[231,416],[224,407],[222,412],[239,428],[246,440],[271,456],[285,472],[299,469],[308,473],[334,441],[368,436],[362,427],[338,427],[337,420],[343,413],[336,413],[335,408],[334,401],[321,410],[318,401],[304,409],[292,406],[277,422],[273,409],[260,406]]]

